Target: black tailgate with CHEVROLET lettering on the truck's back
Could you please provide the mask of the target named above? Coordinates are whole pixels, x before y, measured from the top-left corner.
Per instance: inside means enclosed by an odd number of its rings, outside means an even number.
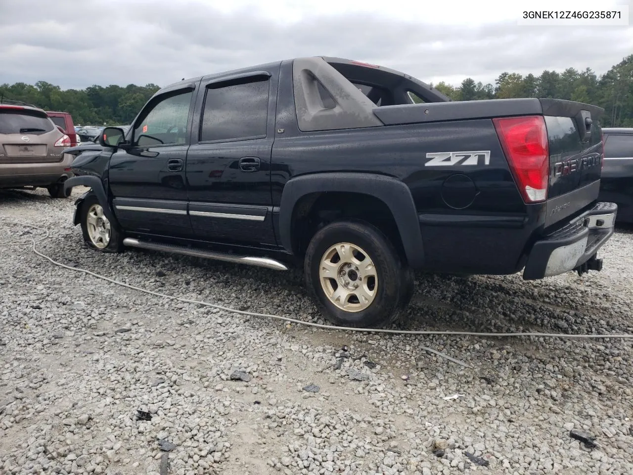
[[[598,200],[603,163],[599,118],[604,110],[573,101],[539,100],[549,141],[549,227]]]

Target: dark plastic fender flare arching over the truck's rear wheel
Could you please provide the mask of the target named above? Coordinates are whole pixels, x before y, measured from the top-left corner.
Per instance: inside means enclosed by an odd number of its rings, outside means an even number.
[[[310,193],[335,191],[366,194],[385,203],[396,220],[409,264],[413,268],[423,266],[420,219],[411,190],[398,179],[368,173],[318,173],[287,181],[279,205],[279,235],[285,250],[292,253],[292,214],[296,203]]]

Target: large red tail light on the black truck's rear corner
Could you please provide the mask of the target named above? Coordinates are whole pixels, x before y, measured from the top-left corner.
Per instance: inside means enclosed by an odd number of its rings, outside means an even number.
[[[548,197],[549,144],[541,115],[492,119],[525,203]]]

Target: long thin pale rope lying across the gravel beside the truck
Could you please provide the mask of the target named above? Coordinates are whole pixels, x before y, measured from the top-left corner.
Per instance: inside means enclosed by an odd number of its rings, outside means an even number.
[[[4,218],[0,218],[4,219]],[[118,286],[122,286],[131,290],[143,292],[149,295],[154,295],[161,298],[166,298],[169,300],[179,300],[185,303],[193,303],[195,305],[203,305],[205,307],[213,307],[218,308],[219,310],[224,310],[225,312],[230,312],[232,314],[240,314],[240,315],[249,315],[251,317],[264,317],[275,320],[282,320],[284,322],[290,322],[297,325],[303,325],[308,327],[321,328],[326,330],[341,330],[341,331],[352,331],[352,332],[362,332],[362,333],[389,333],[389,334],[404,334],[404,335],[461,335],[461,336],[496,336],[496,337],[517,337],[517,336],[536,336],[541,338],[581,338],[581,339],[599,339],[599,338],[618,338],[618,339],[633,339],[633,334],[565,334],[565,333],[537,333],[537,332],[526,332],[526,333],[485,333],[485,332],[471,332],[471,331],[427,331],[427,330],[391,330],[391,329],[375,329],[375,328],[355,328],[355,327],[340,327],[334,325],[322,325],[313,322],[304,322],[303,320],[292,319],[290,317],[282,317],[280,315],[271,315],[271,314],[260,314],[258,312],[248,312],[247,310],[237,310],[235,308],[223,307],[222,305],[216,305],[215,303],[209,303],[205,301],[199,300],[191,300],[189,298],[184,297],[176,297],[173,295],[166,295],[161,292],[156,292],[153,290],[144,289],[141,287],[133,286],[130,284],[126,284],[125,282],[116,281],[115,279],[111,279],[110,277],[101,276],[96,274],[95,272],[91,272],[87,269],[81,269],[80,267],[72,267],[70,265],[66,265],[64,263],[58,262],[51,257],[41,253],[35,247],[36,242],[41,242],[44,239],[49,237],[49,232],[47,229],[42,227],[38,227],[32,224],[22,223],[22,222],[9,222],[10,224],[22,225],[31,227],[33,229],[38,229],[39,231],[46,232],[46,236],[44,238],[35,241],[35,239],[27,239],[26,241],[17,241],[13,243],[9,243],[9,245],[25,245],[29,244],[28,241],[32,244],[32,251],[38,255],[46,259],[47,261],[57,265],[59,267],[63,267],[64,269],[73,270],[75,272],[83,272],[84,274],[89,274],[91,276],[97,277],[97,279],[103,279],[104,281],[111,282]],[[438,352],[437,350],[433,350],[432,348],[423,347],[424,350],[430,353],[434,353],[442,358],[446,358],[449,361],[452,361],[456,364],[460,364],[463,367],[472,368],[472,366],[461,362],[460,360],[456,360],[454,358],[445,355],[444,353]]]

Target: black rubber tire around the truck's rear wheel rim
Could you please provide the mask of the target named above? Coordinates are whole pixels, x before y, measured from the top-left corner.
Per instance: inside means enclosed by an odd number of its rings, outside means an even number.
[[[358,296],[353,295],[344,298],[347,305],[356,305],[353,310],[344,310],[336,305],[326,293],[337,291],[340,272],[345,272],[345,264],[339,267],[335,277],[325,277],[325,284],[322,284],[320,277],[320,267],[325,254],[332,246],[339,243],[349,243],[357,246],[367,253],[368,258],[375,268],[373,300],[367,307],[363,308]],[[337,252],[337,251],[336,251]],[[359,254],[361,258],[362,254]],[[356,257],[356,255],[354,255]],[[337,260],[337,262],[334,262]],[[356,258],[358,260],[358,258]],[[341,255],[337,252],[334,258],[328,258],[327,262],[337,265],[341,260]],[[365,262],[363,259],[361,262]],[[352,264],[356,269],[355,264]],[[360,266],[360,264],[359,264]],[[348,271],[349,272],[349,271]],[[413,295],[413,273],[404,265],[403,260],[391,244],[389,239],[373,225],[365,222],[341,221],[326,225],[316,232],[308,245],[304,260],[304,274],[306,286],[310,290],[319,310],[323,316],[332,324],[346,327],[380,328],[387,326],[398,317],[399,312],[406,306]],[[341,277],[343,284],[354,280],[357,274],[348,277]],[[367,277],[365,282],[371,286],[372,277]],[[329,282],[329,283],[328,283]],[[355,281],[354,283],[358,283]],[[353,283],[353,284],[354,284]],[[352,285],[353,285],[352,284]],[[348,284],[349,285],[349,284]],[[362,285],[362,284],[361,284]],[[325,289],[324,289],[325,287]],[[349,288],[348,288],[349,289]],[[352,290],[352,292],[354,292]],[[335,294],[334,294],[335,295]],[[340,302],[340,300],[339,300]]]

